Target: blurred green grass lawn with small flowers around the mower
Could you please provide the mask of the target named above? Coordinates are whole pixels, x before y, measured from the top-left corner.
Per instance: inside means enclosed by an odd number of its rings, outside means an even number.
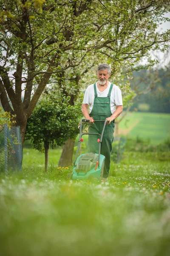
[[[57,150],[44,173],[39,154],[0,176],[1,255],[169,256],[168,152],[125,151],[108,182],[69,180]]]

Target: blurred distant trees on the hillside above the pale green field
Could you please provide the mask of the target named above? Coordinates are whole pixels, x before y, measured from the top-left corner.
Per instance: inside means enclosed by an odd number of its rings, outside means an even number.
[[[170,113],[170,67],[134,72],[130,84],[136,93],[131,110]]]

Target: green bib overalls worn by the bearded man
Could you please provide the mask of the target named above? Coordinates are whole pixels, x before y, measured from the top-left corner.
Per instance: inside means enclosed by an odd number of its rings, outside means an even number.
[[[105,120],[107,117],[112,115],[111,113],[111,90],[113,84],[111,84],[109,93],[107,97],[98,97],[96,91],[96,83],[94,84],[94,106],[90,113],[90,116],[94,120]],[[94,122],[91,123],[89,128],[89,133],[102,133],[103,122]],[[105,126],[105,131],[103,134],[102,145],[101,145],[101,154],[105,156],[105,167],[103,172],[103,177],[109,176],[109,169],[111,164],[111,151],[112,151],[112,142],[113,142],[113,132],[114,132],[114,120],[110,125]],[[99,135],[89,135],[88,136],[88,151],[93,153],[99,153],[99,143],[97,142]]]

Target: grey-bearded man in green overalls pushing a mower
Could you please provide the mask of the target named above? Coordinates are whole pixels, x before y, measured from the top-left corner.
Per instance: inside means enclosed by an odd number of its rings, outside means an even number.
[[[108,81],[111,68],[108,64],[101,64],[97,67],[98,82],[91,84],[85,90],[82,102],[82,113],[85,119],[90,120],[89,133],[102,133],[103,122],[94,120],[108,120],[103,134],[101,154],[105,156],[105,167],[103,177],[109,176],[111,163],[111,151],[114,132],[114,119],[123,111],[122,93],[118,86]],[[89,107],[89,110],[88,110]],[[98,153],[98,135],[88,136],[88,151]]]

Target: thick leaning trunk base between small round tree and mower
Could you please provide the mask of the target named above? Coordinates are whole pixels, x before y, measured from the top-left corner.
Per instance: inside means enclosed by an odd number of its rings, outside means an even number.
[[[65,145],[62,148],[62,154],[59,159],[58,166],[60,167],[68,167],[72,164],[73,152],[74,152],[74,143],[75,141],[72,139],[68,139]]]

